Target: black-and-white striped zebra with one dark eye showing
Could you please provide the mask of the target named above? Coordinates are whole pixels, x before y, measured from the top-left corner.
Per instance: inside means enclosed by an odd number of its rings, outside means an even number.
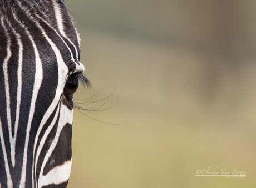
[[[0,21],[0,187],[66,187],[79,34],[62,0],[2,0]]]

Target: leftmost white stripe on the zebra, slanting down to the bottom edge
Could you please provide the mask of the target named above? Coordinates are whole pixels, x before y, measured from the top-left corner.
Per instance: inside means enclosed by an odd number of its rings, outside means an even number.
[[[2,129],[1,119],[0,119],[0,144],[2,145],[2,149],[3,149],[3,160],[4,160],[4,167],[6,169],[6,175],[7,175],[7,186],[13,187],[11,174],[9,171],[8,160],[7,160],[6,145],[4,143],[4,138],[3,138],[3,129]]]

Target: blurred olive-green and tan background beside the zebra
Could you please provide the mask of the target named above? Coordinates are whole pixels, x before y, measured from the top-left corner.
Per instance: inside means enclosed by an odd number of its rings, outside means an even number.
[[[74,114],[68,187],[256,187],[255,1],[66,4],[93,86],[75,100],[96,94]],[[247,176],[195,176],[208,167]]]

